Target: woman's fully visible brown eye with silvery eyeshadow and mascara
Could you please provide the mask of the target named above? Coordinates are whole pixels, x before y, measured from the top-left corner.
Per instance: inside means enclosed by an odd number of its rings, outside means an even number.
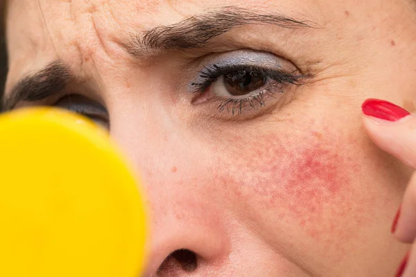
[[[242,114],[246,108],[266,105],[269,96],[275,102],[292,85],[302,84],[306,76],[281,57],[255,51],[235,51],[204,66],[191,83],[193,105],[218,102],[218,111]]]

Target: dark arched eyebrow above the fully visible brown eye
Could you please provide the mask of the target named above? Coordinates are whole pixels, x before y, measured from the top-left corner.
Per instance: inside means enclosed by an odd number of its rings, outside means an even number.
[[[157,26],[143,34],[132,34],[123,46],[134,57],[152,51],[175,51],[206,46],[210,39],[248,24],[271,24],[281,28],[314,28],[311,21],[284,15],[263,14],[245,8],[225,7],[188,17],[177,24]]]

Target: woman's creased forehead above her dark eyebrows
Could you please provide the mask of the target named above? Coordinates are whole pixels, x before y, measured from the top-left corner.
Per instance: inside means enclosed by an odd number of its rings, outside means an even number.
[[[92,53],[97,47],[112,51],[132,34],[175,24],[209,10],[236,7],[311,19],[318,10],[313,3],[313,0],[10,0],[7,35],[12,63],[8,84],[21,78],[21,74],[45,66],[46,61],[80,60],[77,55],[81,51]]]

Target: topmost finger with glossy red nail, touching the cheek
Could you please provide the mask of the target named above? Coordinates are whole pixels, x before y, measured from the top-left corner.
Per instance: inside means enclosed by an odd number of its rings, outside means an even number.
[[[384,100],[363,103],[364,127],[385,152],[416,168],[416,116]]]

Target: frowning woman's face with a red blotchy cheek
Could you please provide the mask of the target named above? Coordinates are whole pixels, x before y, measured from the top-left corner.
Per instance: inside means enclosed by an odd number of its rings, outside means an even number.
[[[410,170],[370,143],[360,105],[414,111],[414,9],[10,0],[5,108],[109,127],[151,207],[146,276],[392,276]]]

